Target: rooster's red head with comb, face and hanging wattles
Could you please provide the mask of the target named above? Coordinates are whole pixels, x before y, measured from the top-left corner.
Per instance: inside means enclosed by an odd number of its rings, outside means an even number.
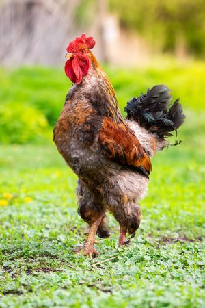
[[[92,36],[86,38],[86,35],[82,34],[68,45],[66,57],[68,57],[69,60],[66,61],[65,72],[74,84],[80,84],[83,75],[87,74],[92,56],[90,49],[92,49],[95,44],[96,42]]]

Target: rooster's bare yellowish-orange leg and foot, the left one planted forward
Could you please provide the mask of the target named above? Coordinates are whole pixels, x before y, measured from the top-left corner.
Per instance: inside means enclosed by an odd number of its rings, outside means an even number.
[[[85,243],[76,249],[76,253],[82,252],[83,255],[89,255],[90,258],[92,258],[93,255],[99,255],[99,253],[94,248],[94,242],[96,238],[96,232],[97,232],[97,229],[98,229],[98,226],[101,220],[102,220],[102,216],[100,216],[98,220],[96,220],[90,225],[90,229],[88,231],[88,235],[85,240]]]

